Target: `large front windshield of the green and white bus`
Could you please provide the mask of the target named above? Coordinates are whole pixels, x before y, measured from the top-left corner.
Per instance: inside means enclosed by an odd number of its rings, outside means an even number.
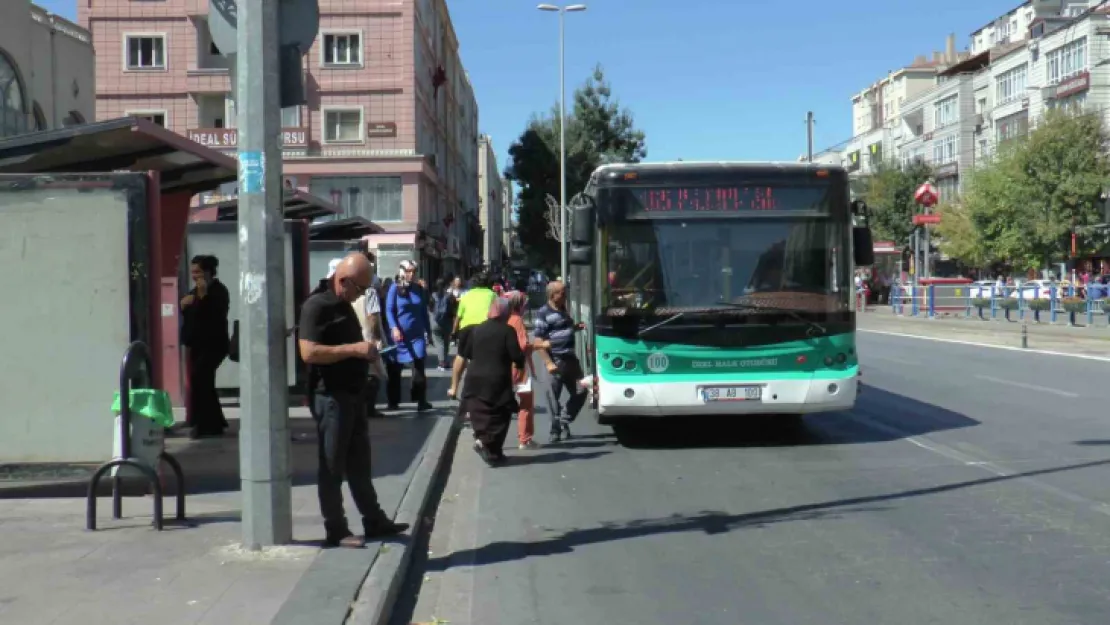
[[[603,310],[849,308],[849,225],[831,216],[623,221],[605,234]]]

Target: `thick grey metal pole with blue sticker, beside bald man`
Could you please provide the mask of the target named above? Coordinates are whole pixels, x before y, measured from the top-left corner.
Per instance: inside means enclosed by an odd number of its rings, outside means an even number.
[[[239,0],[240,476],[243,546],[293,538],[278,7]]]

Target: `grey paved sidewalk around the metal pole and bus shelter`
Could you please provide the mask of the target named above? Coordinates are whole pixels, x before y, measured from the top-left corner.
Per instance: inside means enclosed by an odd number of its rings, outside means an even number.
[[[430,396],[444,396],[444,374],[434,369],[428,374]],[[433,404],[437,410],[428,413],[402,410],[371,422],[374,486],[389,514],[401,510],[402,522],[420,522],[434,473],[428,466],[440,467],[457,432],[453,409]],[[315,429],[304,407],[290,410],[294,544],[261,553],[239,547],[239,415],[236,409],[226,414],[232,432],[222,438],[167,441],[185,472],[189,522],[172,522],[170,486],[164,532],[150,526],[149,496],[124,498],[120,521],[111,518],[111,500],[101,497],[98,531],[87,532],[81,467],[61,478],[54,472],[50,480],[0,480],[0,497],[7,500],[0,504],[0,623],[341,625],[364,582],[394,583],[407,561],[406,537],[364,551],[320,548]],[[77,497],[42,498],[71,492],[74,484]],[[11,498],[28,494],[39,497]],[[349,495],[345,500],[357,528],[357,513]],[[362,594],[379,604],[391,598],[373,589]]]

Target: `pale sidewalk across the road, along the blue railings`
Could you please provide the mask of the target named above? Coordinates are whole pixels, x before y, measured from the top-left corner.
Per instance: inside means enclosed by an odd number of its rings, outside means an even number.
[[[1042,316],[1047,317],[1047,315]],[[1096,316],[1094,325],[1086,327],[1069,326],[1066,324],[1067,316],[1061,316],[1060,323],[1056,324],[1036,323],[1031,315],[1028,316],[1026,329],[1029,347],[1110,356],[1110,327],[1107,327],[1104,317]],[[1011,313],[1011,317],[1017,319],[1013,313]],[[962,314],[928,319],[925,315],[896,315],[889,306],[875,306],[868,308],[866,313],[858,314],[856,323],[859,330],[864,331],[917,334],[1011,347],[1021,346],[1021,323],[1006,321],[1001,314],[996,320],[981,320],[978,316],[967,317]]]

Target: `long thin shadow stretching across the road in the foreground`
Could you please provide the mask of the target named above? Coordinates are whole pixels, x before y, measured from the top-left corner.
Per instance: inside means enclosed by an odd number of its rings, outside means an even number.
[[[836,520],[854,513],[889,510],[890,506],[881,505],[888,502],[1106,465],[1110,465],[1110,460],[1041,468],[1011,475],[992,475],[990,477],[968,480],[928,488],[915,488],[882,495],[803,504],[746,514],[706,511],[686,516],[675,514],[663,518],[638,520],[627,523],[603,523],[596,527],[568,530],[534,542],[500,541],[474,550],[463,550],[441,557],[430,558],[427,561],[427,571],[442,572],[453,566],[480,566],[483,564],[513,562],[534,556],[567,554],[573,553],[575,547],[638,538],[642,536],[656,536],[680,532],[703,532],[709,535],[717,535],[748,527],[765,527],[776,523]]]

